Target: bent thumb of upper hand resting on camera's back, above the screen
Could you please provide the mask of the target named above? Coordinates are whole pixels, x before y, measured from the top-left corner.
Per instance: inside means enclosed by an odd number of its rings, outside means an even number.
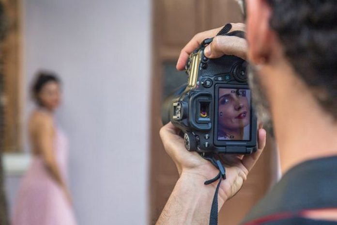
[[[245,60],[247,58],[247,41],[236,36],[216,36],[205,48],[204,54],[212,59],[223,55],[235,55]]]

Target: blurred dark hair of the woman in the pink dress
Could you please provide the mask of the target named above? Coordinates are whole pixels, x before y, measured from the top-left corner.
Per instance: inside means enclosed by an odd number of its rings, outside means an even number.
[[[50,81],[57,82],[58,84],[61,83],[57,75],[52,72],[39,71],[36,74],[36,79],[32,85],[31,93],[33,99],[36,101],[37,104],[42,105],[41,101],[38,98],[38,94],[41,92],[43,86]]]

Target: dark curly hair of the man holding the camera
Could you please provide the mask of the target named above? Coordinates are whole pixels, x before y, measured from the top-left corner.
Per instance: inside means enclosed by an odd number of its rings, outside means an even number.
[[[298,76],[337,120],[336,0],[268,0],[271,28]]]

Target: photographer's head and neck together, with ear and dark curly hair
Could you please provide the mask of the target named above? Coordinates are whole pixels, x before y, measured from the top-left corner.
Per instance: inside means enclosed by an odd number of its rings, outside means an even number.
[[[253,97],[270,109],[262,120],[273,118],[282,151],[337,146],[336,1],[246,0],[246,18]]]

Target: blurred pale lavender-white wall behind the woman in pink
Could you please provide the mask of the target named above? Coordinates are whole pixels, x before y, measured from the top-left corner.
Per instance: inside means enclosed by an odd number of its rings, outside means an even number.
[[[150,0],[26,0],[23,10],[24,92],[39,68],[63,81],[57,117],[79,224],[148,224]]]

